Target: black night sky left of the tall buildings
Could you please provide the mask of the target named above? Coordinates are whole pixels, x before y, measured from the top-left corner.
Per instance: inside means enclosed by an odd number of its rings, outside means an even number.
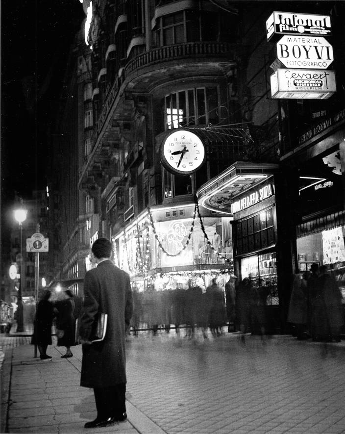
[[[1,247],[15,192],[45,188],[46,109],[84,13],[79,0],[1,0]],[[37,104],[35,103],[37,101]]]

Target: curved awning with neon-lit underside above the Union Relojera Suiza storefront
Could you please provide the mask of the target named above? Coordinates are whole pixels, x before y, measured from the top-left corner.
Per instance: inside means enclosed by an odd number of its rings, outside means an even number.
[[[197,190],[199,205],[211,211],[231,214],[231,204],[236,197],[278,170],[278,164],[236,161]]]

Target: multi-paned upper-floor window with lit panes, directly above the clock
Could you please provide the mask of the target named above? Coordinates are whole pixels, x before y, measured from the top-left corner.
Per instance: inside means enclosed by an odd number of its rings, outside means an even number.
[[[165,97],[166,129],[191,125],[216,125],[219,95],[217,87],[174,92]]]

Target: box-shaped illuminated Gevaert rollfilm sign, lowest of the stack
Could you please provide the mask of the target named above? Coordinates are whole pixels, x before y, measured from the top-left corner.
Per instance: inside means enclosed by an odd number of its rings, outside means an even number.
[[[279,68],[271,75],[274,99],[325,100],[336,91],[334,71]]]

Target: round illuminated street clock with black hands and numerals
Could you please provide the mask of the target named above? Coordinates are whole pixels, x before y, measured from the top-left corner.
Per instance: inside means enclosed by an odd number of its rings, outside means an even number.
[[[205,160],[205,148],[191,131],[177,130],[166,137],[161,147],[161,159],[169,172],[190,175]]]

